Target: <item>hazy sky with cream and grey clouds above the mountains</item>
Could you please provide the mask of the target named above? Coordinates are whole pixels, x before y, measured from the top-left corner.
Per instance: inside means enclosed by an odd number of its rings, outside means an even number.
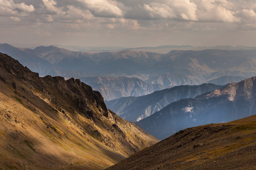
[[[0,0],[0,43],[256,46],[255,12],[255,0]]]

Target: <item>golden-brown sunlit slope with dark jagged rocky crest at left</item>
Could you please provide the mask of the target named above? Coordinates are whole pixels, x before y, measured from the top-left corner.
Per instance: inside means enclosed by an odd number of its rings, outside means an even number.
[[[104,169],[158,142],[79,79],[0,60],[0,169]]]

